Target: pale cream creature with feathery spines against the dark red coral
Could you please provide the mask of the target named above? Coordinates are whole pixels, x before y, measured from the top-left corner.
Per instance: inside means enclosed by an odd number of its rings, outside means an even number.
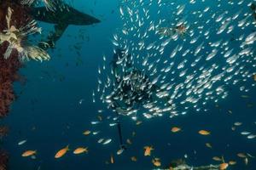
[[[29,59],[40,61],[48,60],[49,54],[47,54],[44,49],[31,45],[26,40],[29,35],[41,32],[41,28],[36,26],[36,21],[32,20],[26,26],[20,26],[20,28],[17,29],[15,26],[10,26],[11,15],[12,9],[9,8],[6,16],[8,29],[0,32],[0,44],[3,42],[9,42],[6,52],[3,54],[4,59],[8,59],[12,51],[15,49],[19,54],[20,61]]]

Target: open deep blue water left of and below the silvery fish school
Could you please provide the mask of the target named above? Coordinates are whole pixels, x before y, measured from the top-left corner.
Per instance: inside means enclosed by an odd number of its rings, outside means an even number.
[[[154,156],[160,157],[161,167],[168,167],[170,161],[179,158],[193,166],[215,164],[213,156],[224,156],[225,160],[237,162],[230,169],[256,169],[255,158],[249,158],[246,166],[236,156],[240,152],[256,156],[256,139],[247,139],[231,131],[234,122],[242,122],[241,131],[256,133],[255,87],[246,94],[248,98],[241,98],[242,93],[231,87],[229,96],[218,101],[218,107],[212,105],[206,112],[189,110],[188,114],[172,119],[165,116],[143,119],[139,126],[131,118],[121,117],[123,138],[131,138],[132,132],[136,132],[136,136],[120,156],[116,156],[116,150],[119,150],[116,127],[109,127],[104,122],[98,125],[103,135],[113,139],[103,146],[97,144],[93,135],[84,136],[82,133],[90,129],[98,110],[106,110],[106,105],[101,102],[92,102],[91,93],[96,88],[102,54],[107,56],[107,63],[111,62],[111,39],[122,27],[122,22],[117,0],[79,0],[71,4],[102,22],[93,26],[68,26],[55,49],[49,50],[49,61],[30,61],[20,70],[26,83],[15,83],[18,99],[3,121],[10,128],[9,135],[3,140],[3,148],[10,153],[11,170],[153,169],[152,157],[143,156],[145,145],[154,146]],[[45,23],[39,22],[39,26],[44,29],[43,35],[53,29]],[[253,29],[255,31],[255,27]],[[248,107],[248,104],[253,106]],[[112,114],[112,111],[105,111],[103,119]],[[173,126],[181,127],[182,132],[171,133]],[[204,127],[211,131],[210,136],[197,133]],[[18,145],[23,139],[27,140],[26,144]],[[207,142],[212,144],[212,149],[205,146]],[[89,152],[78,156],[67,152],[61,159],[55,159],[55,152],[67,144],[71,150],[86,146]],[[37,150],[36,159],[22,157],[25,150]],[[106,164],[111,154],[115,162]],[[137,161],[131,161],[131,156],[137,156]]]

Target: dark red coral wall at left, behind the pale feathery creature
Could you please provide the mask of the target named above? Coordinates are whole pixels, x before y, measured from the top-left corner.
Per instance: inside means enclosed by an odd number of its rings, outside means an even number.
[[[1,2],[0,6],[0,32],[7,29],[7,22],[5,19],[8,13],[8,8],[12,8],[12,16],[10,26],[20,28],[25,26],[31,19],[28,15],[28,8],[21,6],[15,1],[4,1]],[[9,59],[4,59],[3,54],[5,53],[9,42],[3,42],[0,46],[0,118],[6,116],[9,112],[9,106],[15,100],[15,94],[13,90],[13,82],[19,77],[18,71],[20,69],[20,61],[18,54],[14,50],[10,55]]]

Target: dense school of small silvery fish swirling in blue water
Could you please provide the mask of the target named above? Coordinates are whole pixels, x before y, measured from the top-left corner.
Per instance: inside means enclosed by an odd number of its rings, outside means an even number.
[[[151,118],[208,111],[230,88],[247,93],[255,86],[256,33],[245,3],[124,1],[123,27],[113,36],[114,48],[123,51],[114,50],[119,70],[99,67],[99,99],[119,114]],[[135,81],[134,71],[140,72]]]

